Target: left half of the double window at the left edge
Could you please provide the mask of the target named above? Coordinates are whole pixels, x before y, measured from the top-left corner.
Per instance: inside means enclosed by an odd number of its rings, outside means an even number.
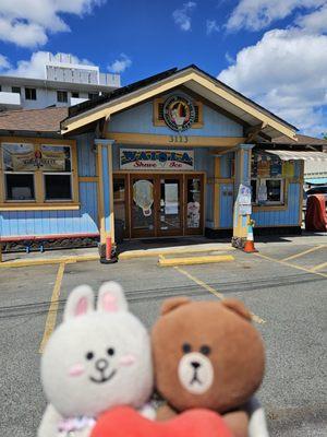
[[[2,144],[5,200],[35,200],[33,144]]]

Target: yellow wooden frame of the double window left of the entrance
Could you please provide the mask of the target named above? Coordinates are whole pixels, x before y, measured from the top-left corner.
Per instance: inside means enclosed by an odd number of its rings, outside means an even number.
[[[56,175],[62,172],[47,172],[36,168],[34,172],[5,172],[3,166],[3,146],[2,144],[32,144],[34,152],[41,150],[43,145],[51,146],[70,146],[71,150],[71,172],[64,172],[71,177],[71,199],[46,200],[46,186],[44,175]],[[28,173],[34,175],[34,200],[7,200],[5,174]],[[10,210],[78,210],[78,174],[77,174],[77,155],[75,140],[57,140],[47,138],[1,138],[0,141],[0,211]]]

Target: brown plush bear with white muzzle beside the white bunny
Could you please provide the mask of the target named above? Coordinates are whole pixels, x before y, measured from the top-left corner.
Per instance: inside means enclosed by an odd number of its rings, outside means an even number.
[[[222,414],[235,437],[247,436],[244,404],[262,382],[265,353],[241,302],[167,299],[152,342],[156,387],[167,401],[158,420],[206,408]]]

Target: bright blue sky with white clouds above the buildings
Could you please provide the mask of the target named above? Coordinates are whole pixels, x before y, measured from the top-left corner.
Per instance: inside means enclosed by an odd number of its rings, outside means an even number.
[[[45,52],[129,84],[197,64],[296,126],[327,132],[327,0],[0,0],[0,74]]]

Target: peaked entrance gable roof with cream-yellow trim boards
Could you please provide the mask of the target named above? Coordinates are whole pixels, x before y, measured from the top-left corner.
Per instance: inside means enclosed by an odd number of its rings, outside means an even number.
[[[164,71],[70,108],[69,117],[61,123],[62,133],[101,118],[108,119],[112,114],[182,85],[239,117],[250,127],[262,126],[262,132],[270,138],[281,134],[293,138],[295,134],[294,126],[193,64],[181,70],[173,68]]]

